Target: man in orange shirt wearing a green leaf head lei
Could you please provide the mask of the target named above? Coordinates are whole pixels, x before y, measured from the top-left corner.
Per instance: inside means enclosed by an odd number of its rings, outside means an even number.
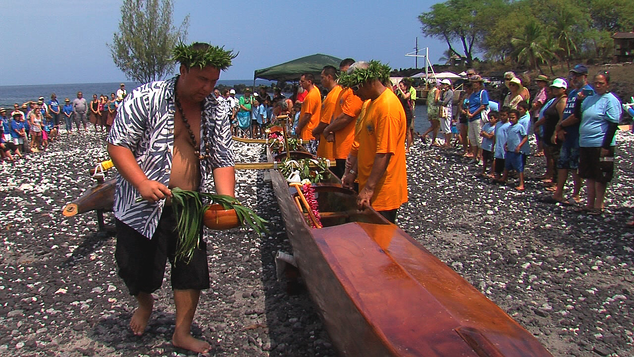
[[[339,83],[361,100],[370,100],[354,138],[343,184],[352,188],[358,179],[359,209],[372,206],[394,223],[398,208],[407,202],[407,128],[403,105],[382,84],[389,71],[378,61],[356,62],[340,76]]]

